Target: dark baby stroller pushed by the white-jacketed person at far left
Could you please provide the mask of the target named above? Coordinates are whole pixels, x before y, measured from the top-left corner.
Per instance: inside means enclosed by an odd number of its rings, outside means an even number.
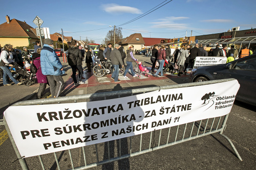
[[[23,84],[26,86],[30,86],[32,82],[37,80],[36,75],[16,63],[14,63],[12,67],[9,67],[9,69],[12,72],[13,77],[20,82],[24,81]]]

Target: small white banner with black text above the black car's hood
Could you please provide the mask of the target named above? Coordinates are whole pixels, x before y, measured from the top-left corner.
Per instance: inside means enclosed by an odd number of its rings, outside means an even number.
[[[194,67],[225,64],[226,62],[226,57],[196,57]]]

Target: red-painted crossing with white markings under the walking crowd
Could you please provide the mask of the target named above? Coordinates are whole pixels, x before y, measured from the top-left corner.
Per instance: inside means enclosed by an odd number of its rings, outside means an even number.
[[[137,58],[139,61],[142,62],[143,65],[147,67],[148,70],[151,70],[152,63],[150,61],[149,57],[143,57],[141,55],[135,55],[135,58]],[[60,96],[70,96],[70,95],[79,95],[79,94],[89,94],[89,93],[95,93],[103,90],[113,90],[116,89],[115,87],[118,85],[119,88],[117,90],[121,90],[123,88],[142,88],[146,86],[164,86],[164,85],[170,85],[170,84],[177,84],[177,83],[188,83],[188,75],[183,75],[181,78],[178,78],[177,75],[170,74],[167,72],[164,77],[156,78],[152,76],[151,73],[149,77],[141,75],[141,77],[133,77],[129,72],[126,74],[128,77],[127,79],[123,78],[123,76],[119,76],[119,79],[121,82],[115,83],[111,79],[111,74],[105,75],[103,77],[96,77],[93,75],[93,72],[87,72],[87,67],[85,60],[82,62],[83,67],[83,78],[82,81],[84,84],[80,84],[78,86],[74,86],[74,81],[71,77],[72,75],[72,69],[69,66],[69,64],[66,62],[63,62],[63,58],[59,57],[61,64],[65,68],[66,74],[62,75],[62,78],[65,82],[65,85],[63,86],[62,92]],[[126,63],[126,62],[125,62]],[[135,62],[133,63],[135,66]],[[78,74],[76,75],[78,76]],[[175,81],[174,81],[175,80]],[[36,86],[36,85],[35,85]],[[38,86],[39,87],[39,86]],[[32,94],[29,100],[36,99],[36,93],[38,89],[35,90]],[[50,98],[50,88],[47,86],[47,89],[45,91],[45,94],[43,95],[44,98]]]

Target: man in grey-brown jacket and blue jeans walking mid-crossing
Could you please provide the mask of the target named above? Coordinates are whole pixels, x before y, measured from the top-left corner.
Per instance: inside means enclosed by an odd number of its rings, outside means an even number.
[[[122,56],[121,56],[121,53],[118,51],[119,47],[120,47],[119,44],[115,44],[115,48],[114,48],[114,50],[112,50],[112,52],[110,54],[111,63],[114,66],[114,69],[115,69],[113,71],[111,79],[115,80],[115,82],[120,82],[120,80],[118,79],[119,64],[121,64],[121,66],[123,67]]]

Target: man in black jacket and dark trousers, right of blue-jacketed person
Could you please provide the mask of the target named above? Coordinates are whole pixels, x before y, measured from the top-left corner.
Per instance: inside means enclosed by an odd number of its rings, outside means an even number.
[[[74,80],[74,85],[77,86],[78,84],[84,84],[82,82],[82,53],[81,50],[76,46],[76,41],[71,41],[71,47],[68,50],[68,63],[72,68],[72,78]],[[76,69],[79,71],[78,75],[78,83],[76,80]]]

